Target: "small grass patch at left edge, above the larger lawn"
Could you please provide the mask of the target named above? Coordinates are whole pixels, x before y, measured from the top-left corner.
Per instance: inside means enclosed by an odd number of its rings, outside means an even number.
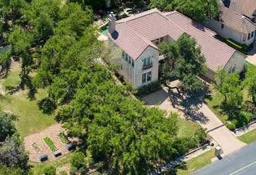
[[[8,73],[7,78],[3,81],[2,85],[4,89],[8,87],[16,87],[20,83],[20,70],[13,70]]]

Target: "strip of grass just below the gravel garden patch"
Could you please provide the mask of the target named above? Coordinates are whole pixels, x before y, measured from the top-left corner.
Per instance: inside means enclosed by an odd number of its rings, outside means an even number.
[[[71,157],[73,156],[73,153],[68,153],[67,155],[63,155],[54,161],[46,162],[46,163],[36,163],[36,162],[29,162],[30,165],[32,165],[32,170],[34,174],[44,174],[44,168],[46,166],[54,166],[55,168],[61,168],[67,164],[69,164]]]

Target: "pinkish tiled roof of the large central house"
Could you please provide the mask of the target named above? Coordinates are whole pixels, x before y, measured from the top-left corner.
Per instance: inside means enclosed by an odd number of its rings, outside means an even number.
[[[177,11],[161,13],[152,9],[116,22],[116,31],[108,36],[134,60],[143,53],[148,45],[158,49],[151,41],[163,36],[177,40],[187,33],[195,37],[201,52],[205,55],[207,67],[216,72],[218,66],[226,66],[235,49],[218,41],[208,28],[194,22]],[[160,60],[163,57],[160,56]]]

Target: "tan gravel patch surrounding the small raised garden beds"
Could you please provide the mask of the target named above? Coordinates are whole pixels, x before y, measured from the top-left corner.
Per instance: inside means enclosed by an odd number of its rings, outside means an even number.
[[[55,143],[57,148],[61,151],[61,155],[65,155],[69,153],[70,151],[67,150],[67,144],[61,143],[59,139],[57,139],[56,137],[56,134],[61,131],[64,131],[64,128],[62,128],[62,124],[55,124],[40,133],[36,133],[30,136],[24,137],[24,147],[25,147],[25,150],[29,152],[28,156],[30,161],[41,162],[39,157],[45,154],[48,155],[48,161],[53,161],[54,159],[57,159],[57,157],[55,157],[53,153],[49,151],[48,147],[46,147],[46,145],[44,144],[43,137],[50,137],[50,139]],[[69,138],[69,139],[71,140],[71,142],[77,141],[76,138]],[[38,145],[42,148],[41,153],[38,153],[38,154],[35,153],[33,149],[30,147],[30,144],[34,142],[38,143]]]

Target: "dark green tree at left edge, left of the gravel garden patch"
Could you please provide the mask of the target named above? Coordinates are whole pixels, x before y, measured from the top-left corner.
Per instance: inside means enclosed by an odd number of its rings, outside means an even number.
[[[0,142],[5,141],[7,136],[12,136],[15,132],[16,128],[12,116],[0,112]]]

